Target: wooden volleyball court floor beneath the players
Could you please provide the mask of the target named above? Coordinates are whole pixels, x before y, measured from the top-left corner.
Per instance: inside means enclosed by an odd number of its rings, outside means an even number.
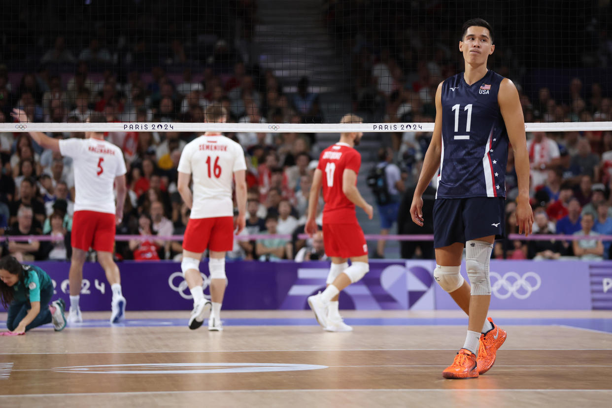
[[[506,325],[508,339],[487,374],[446,380],[441,371],[463,344],[466,329],[444,323],[455,317],[460,322],[461,314],[344,314],[347,321],[402,317],[410,324],[378,321],[354,325],[352,333],[326,333],[302,324],[309,311],[228,311],[225,330],[208,332],[188,330],[188,312],[141,312],[127,315],[131,325],[83,325],[61,333],[43,327],[2,336],[0,407],[612,406],[611,333]],[[612,318],[612,312],[498,314],[518,321]],[[147,327],[148,319],[158,325]],[[184,319],[185,325],[163,319]],[[245,319],[248,325],[230,324]],[[271,319],[297,319],[299,325],[270,324]]]

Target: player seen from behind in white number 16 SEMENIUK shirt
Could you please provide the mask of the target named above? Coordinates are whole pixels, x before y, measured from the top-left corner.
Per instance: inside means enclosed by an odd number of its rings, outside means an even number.
[[[227,112],[222,106],[206,108],[205,121],[224,123]],[[247,209],[247,164],[242,147],[219,132],[206,132],[185,146],[179,160],[178,190],[191,209],[183,240],[181,270],[193,295],[189,328],[195,330],[211,310],[208,330],[223,330],[221,305],[225,294],[225,253],[234,245],[233,233],[245,226]],[[189,182],[193,174],[193,195]],[[234,224],[232,182],[236,182],[238,216]],[[209,250],[211,302],[204,299],[200,259]]]

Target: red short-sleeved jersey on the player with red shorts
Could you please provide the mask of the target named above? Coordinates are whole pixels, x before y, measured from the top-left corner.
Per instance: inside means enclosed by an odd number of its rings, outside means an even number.
[[[361,155],[346,143],[336,143],[321,152],[317,168],[323,172],[324,224],[356,223],[355,204],[342,191],[342,174],[351,169],[359,174]]]

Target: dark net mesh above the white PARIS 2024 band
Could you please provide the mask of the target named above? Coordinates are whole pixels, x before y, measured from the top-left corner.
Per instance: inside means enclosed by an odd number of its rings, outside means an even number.
[[[83,122],[91,110],[201,123],[211,103],[234,122],[334,124],[348,111],[368,123],[431,122],[435,87],[463,69],[459,31],[474,10],[493,24],[488,65],[517,84],[526,122],[610,120],[606,0],[64,0],[5,10],[6,122],[19,106],[34,122]]]

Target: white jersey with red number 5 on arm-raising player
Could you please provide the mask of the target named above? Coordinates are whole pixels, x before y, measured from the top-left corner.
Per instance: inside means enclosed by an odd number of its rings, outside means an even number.
[[[105,140],[72,138],[59,141],[59,152],[73,160],[75,211],[114,214],[114,179],[126,172],[121,149]]]

